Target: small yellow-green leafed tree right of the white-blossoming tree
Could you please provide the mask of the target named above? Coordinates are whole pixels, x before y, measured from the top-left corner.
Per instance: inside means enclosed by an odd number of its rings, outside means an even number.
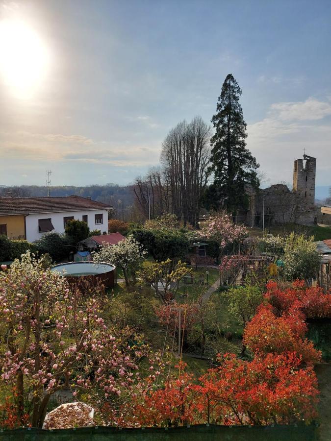
[[[157,297],[162,302],[166,302],[170,288],[175,294],[179,281],[190,271],[180,260],[174,265],[170,259],[167,259],[164,262],[153,262],[146,266],[141,270],[140,276],[145,283],[152,286]]]

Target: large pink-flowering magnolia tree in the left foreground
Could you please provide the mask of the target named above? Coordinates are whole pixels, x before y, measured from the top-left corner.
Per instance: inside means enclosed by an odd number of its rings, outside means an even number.
[[[149,349],[129,347],[132,330],[105,324],[97,293],[86,299],[70,292],[43,259],[27,252],[2,269],[0,382],[11,389],[21,423],[41,427],[51,395],[68,388],[115,413],[139,381],[138,362]]]

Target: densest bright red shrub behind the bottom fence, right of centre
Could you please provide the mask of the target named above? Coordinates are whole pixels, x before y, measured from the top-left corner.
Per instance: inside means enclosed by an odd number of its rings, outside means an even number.
[[[200,378],[195,406],[204,420],[218,424],[290,423],[316,416],[317,380],[300,369],[294,354],[256,357],[252,362],[225,354],[221,366]],[[209,412],[209,415],[208,415]]]

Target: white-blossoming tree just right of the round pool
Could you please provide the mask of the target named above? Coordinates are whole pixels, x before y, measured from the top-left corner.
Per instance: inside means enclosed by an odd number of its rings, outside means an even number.
[[[94,262],[106,262],[123,270],[127,287],[135,286],[136,273],[146,256],[143,245],[130,234],[117,245],[102,245],[100,251],[93,253]]]

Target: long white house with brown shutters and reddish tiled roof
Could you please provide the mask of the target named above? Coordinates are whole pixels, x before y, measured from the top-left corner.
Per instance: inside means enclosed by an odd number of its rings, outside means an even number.
[[[1,198],[2,212],[23,215],[25,239],[34,242],[49,231],[64,233],[67,221],[87,222],[89,229],[108,232],[108,210],[112,207],[82,196]],[[7,207],[6,207],[7,205]]]

